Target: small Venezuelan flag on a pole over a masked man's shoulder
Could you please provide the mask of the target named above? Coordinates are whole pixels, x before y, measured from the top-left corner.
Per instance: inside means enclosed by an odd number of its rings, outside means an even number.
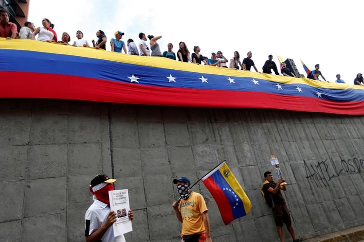
[[[225,225],[250,212],[250,200],[225,162],[201,180],[216,201]]]

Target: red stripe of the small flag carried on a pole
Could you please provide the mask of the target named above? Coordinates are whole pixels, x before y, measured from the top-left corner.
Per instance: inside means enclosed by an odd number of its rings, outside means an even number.
[[[218,172],[218,171],[217,171]],[[208,191],[211,193],[213,199],[216,201],[218,210],[220,211],[223,223],[225,225],[231,223],[234,220],[232,215],[231,205],[223,193],[221,188],[213,181],[212,177],[208,177],[202,181]]]

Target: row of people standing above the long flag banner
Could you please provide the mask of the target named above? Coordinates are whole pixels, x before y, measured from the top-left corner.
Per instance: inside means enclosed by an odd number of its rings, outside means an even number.
[[[6,39],[13,39],[13,38],[20,38],[20,39],[34,39],[46,42],[58,42],[63,43],[65,45],[72,45],[72,46],[83,46],[89,47],[89,43],[86,39],[83,38],[83,33],[80,30],[76,31],[76,40],[71,41],[70,35],[67,32],[63,32],[61,38],[57,38],[56,32],[53,30],[54,25],[50,22],[49,19],[43,18],[42,26],[35,28],[32,22],[25,22],[24,26],[20,28],[20,31],[17,32],[16,25],[14,23],[9,22],[8,13],[4,9],[0,9],[0,37],[4,37]],[[183,62],[190,62],[194,64],[205,64],[210,66],[217,66],[222,68],[234,68],[234,69],[241,69],[245,71],[250,71],[251,67],[254,68],[256,72],[259,72],[256,68],[254,61],[251,59],[252,53],[251,51],[247,52],[246,58],[243,58],[240,61],[240,54],[238,51],[234,51],[233,56],[230,59],[227,59],[220,50],[216,51],[216,53],[212,52],[211,57],[207,58],[200,54],[200,47],[193,46],[193,53],[187,48],[185,42],[180,41],[178,43],[178,51],[174,53],[172,51],[173,44],[167,44],[167,50],[163,53],[160,50],[160,46],[157,43],[157,40],[160,39],[162,36],[153,36],[147,35],[145,36],[144,33],[139,33],[139,40],[137,45],[133,41],[133,39],[129,38],[125,43],[122,39],[124,35],[121,31],[115,31],[114,38],[110,40],[110,47],[111,51],[125,54],[132,54],[132,55],[141,55],[141,56],[162,56],[169,59]],[[91,43],[95,49],[104,49],[106,50],[106,43],[107,38],[105,33],[102,30],[96,31],[96,42],[92,39]],[[149,39],[149,43],[147,43],[147,39]],[[149,47],[150,46],[150,47]],[[127,49],[126,49],[127,47]],[[272,60],[273,56],[268,55],[268,59],[265,61],[262,67],[262,73],[272,74],[272,71],[276,75],[283,75],[283,76],[291,76],[296,77],[295,74],[289,69],[284,62],[280,63],[280,74],[278,72],[277,66]],[[229,64],[227,64],[229,63]],[[310,71],[307,75],[307,78],[318,80],[320,81],[319,77],[322,77],[324,81],[326,79],[323,77],[321,71],[319,70],[319,64],[315,65],[315,69]],[[342,79],[340,74],[336,75],[337,83],[345,83]],[[358,73],[353,81],[354,85],[361,85],[364,86],[364,79],[361,73]]]

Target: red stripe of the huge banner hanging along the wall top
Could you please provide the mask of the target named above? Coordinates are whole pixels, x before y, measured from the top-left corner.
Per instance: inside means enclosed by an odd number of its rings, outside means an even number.
[[[364,101],[330,101],[255,91],[153,87],[88,77],[0,71],[0,98],[55,98],[165,106],[275,108],[364,114]]]

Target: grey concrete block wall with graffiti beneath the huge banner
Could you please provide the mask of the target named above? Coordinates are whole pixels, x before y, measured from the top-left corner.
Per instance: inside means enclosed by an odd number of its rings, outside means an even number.
[[[202,184],[213,241],[278,241],[259,187],[274,170],[302,238],[364,224],[364,118],[280,110],[0,100],[0,241],[83,241],[98,173],[129,189],[128,242],[178,241],[172,178],[192,182],[226,159],[252,202],[224,226]],[[285,237],[289,236],[285,233]]]

